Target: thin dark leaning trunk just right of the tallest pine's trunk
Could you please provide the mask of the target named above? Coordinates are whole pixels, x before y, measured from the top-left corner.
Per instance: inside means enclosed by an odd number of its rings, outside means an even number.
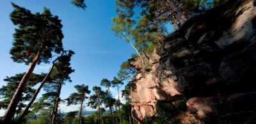
[[[55,62],[55,60],[54,60],[54,62]],[[22,123],[23,118],[28,114],[29,107],[31,107],[33,102],[36,100],[36,97],[37,97],[38,93],[40,92],[41,88],[44,86],[44,83],[45,83],[46,79],[50,76],[50,74],[52,72],[52,69],[55,65],[54,62],[52,62],[51,69],[49,70],[48,74],[45,76],[44,80],[41,82],[40,86],[36,89],[36,92],[34,93],[34,95],[33,95],[32,99],[30,100],[29,104],[26,106],[26,108],[24,109],[24,111],[20,115],[17,123]]]

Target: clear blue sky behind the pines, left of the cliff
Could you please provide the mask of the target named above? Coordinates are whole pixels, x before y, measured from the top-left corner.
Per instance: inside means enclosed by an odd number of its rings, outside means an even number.
[[[13,10],[10,2],[31,10],[33,13],[42,12],[44,7],[49,8],[52,15],[58,15],[63,24],[63,46],[73,50],[72,68],[76,71],[70,76],[72,83],[67,83],[61,90],[61,99],[76,92],[74,85],[89,85],[90,90],[100,85],[102,78],[113,79],[119,71],[120,64],[129,59],[134,53],[131,46],[123,39],[116,38],[110,30],[111,18],[116,16],[115,0],[86,1],[88,8],[82,10],[70,4],[70,0],[4,0],[0,1],[0,87],[6,85],[3,79],[14,76],[19,72],[26,72],[28,66],[17,64],[10,59],[13,32],[9,14]],[[40,64],[35,68],[36,73],[47,72],[50,64]],[[116,90],[111,88],[113,96]],[[64,112],[78,110],[78,106],[66,107],[60,105]],[[89,108],[86,107],[88,110]],[[2,116],[4,110],[0,110]]]

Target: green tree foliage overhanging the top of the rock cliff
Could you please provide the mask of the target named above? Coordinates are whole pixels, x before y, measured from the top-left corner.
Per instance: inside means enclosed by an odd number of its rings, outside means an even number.
[[[176,0],[175,6],[186,17],[200,13],[225,3],[227,0]],[[115,36],[133,39],[133,45],[140,53],[152,52],[168,34],[166,24],[176,24],[172,6],[166,0],[116,0],[116,13],[111,30]],[[177,12],[177,11],[176,11]],[[127,36],[129,38],[127,38]]]

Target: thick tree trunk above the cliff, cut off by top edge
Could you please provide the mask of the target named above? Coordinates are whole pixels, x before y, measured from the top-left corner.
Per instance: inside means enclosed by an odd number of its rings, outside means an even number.
[[[167,0],[170,8],[172,9],[172,14],[175,16],[175,18],[178,21],[179,27],[182,26],[188,18],[179,10],[178,6],[175,4],[173,0]]]

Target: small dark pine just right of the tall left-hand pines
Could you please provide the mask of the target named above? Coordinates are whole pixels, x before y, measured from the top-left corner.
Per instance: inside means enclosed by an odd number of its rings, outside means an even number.
[[[75,86],[77,93],[72,93],[69,95],[69,97],[65,100],[67,100],[68,105],[70,106],[70,104],[78,104],[80,102],[81,106],[80,106],[80,111],[79,111],[79,118],[78,118],[78,122],[77,124],[81,124],[82,120],[81,120],[81,116],[82,116],[82,112],[83,112],[83,102],[85,99],[87,99],[88,97],[86,96],[86,94],[90,94],[91,91],[88,90],[88,85],[76,85]]]

